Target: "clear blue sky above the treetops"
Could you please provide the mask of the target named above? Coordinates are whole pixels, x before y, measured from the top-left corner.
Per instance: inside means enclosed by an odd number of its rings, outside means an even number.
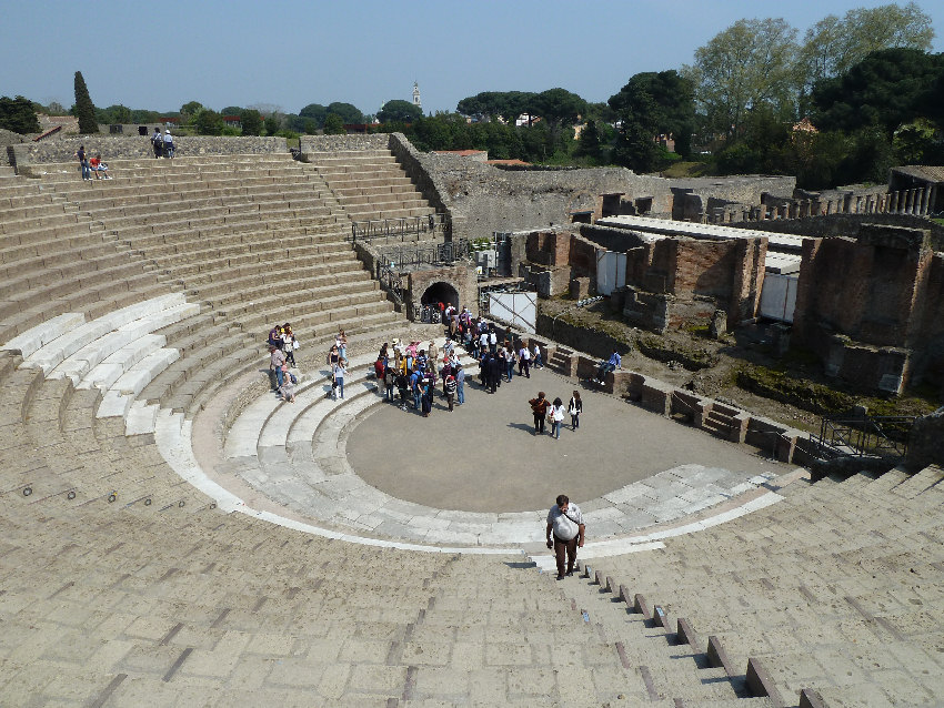
[[[480,91],[562,87],[605,101],[640,71],[677,69],[741,18],[800,30],[860,0],[0,0],[0,95],[73,103],[82,72],[96,105],[179,110],[191,100],[353,103],[373,113],[410,100],[455,109]],[[904,3],[902,3],[904,4]],[[944,50],[944,2],[918,0]],[[160,18],[158,20],[158,18]]]

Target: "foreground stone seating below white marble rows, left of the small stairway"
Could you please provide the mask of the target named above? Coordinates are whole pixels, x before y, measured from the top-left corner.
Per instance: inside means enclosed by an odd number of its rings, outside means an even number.
[[[576,707],[645,696],[520,556],[313,543],[223,513],[153,445],[100,429],[98,392],[20,363],[0,353],[3,702]]]

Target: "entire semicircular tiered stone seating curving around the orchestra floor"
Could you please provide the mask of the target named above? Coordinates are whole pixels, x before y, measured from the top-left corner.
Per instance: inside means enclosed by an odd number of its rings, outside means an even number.
[[[731,481],[763,486],[743,489],[743,508],[605,539],[582,554],[590,581],[554,584],[522,563],[532,536],[515,534],[533,533],[536,512],[474,539],[450,536],[439,513],[421,538],[391,533],[405,503],[364,490],[343,462],[345,432],[378,403],[355,356],[343,405],[310,371],[298,404],[257,396],[228,428],[223,474],[289,504],[252,508],[200,469],[191,431],[218,394],[264,382],[261,340],[285,318],[283,293],[321,283],[294,291],[290,315],[312,348],[325,327],[359,331],[368,348],[406,325],[375,286],[364,301],[330,290],[354,261],[315,168],[245,155],[112,169],[91,184],[71,164],[0,174],[2,702],[747,708],[795,705],[813,687],[835,708],[944,696],[934,466],[799,478],[775,499],[772,481]]]

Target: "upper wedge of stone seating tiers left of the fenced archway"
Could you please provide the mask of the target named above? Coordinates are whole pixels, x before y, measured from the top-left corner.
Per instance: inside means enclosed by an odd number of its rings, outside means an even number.
[[[288,155],[113,161],[113,180],[86,183],[70,166],[50,165],[44,189],[96,219],[111,257],[143,264],[205,312],[158,333],[183,356],[148,384],[149,403],[192,415],[259,366],[275,322],[314,346],[335,327],[398,320],[344,241],[343,210],[322,178]]]

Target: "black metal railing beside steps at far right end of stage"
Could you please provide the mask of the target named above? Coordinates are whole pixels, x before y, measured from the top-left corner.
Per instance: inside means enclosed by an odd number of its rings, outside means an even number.
[[[915,418],[913,415],[824,417],[820,424],[820,435],[811,433],[810,439],[828,457],[904,457],[908,448],[908,433]]]

